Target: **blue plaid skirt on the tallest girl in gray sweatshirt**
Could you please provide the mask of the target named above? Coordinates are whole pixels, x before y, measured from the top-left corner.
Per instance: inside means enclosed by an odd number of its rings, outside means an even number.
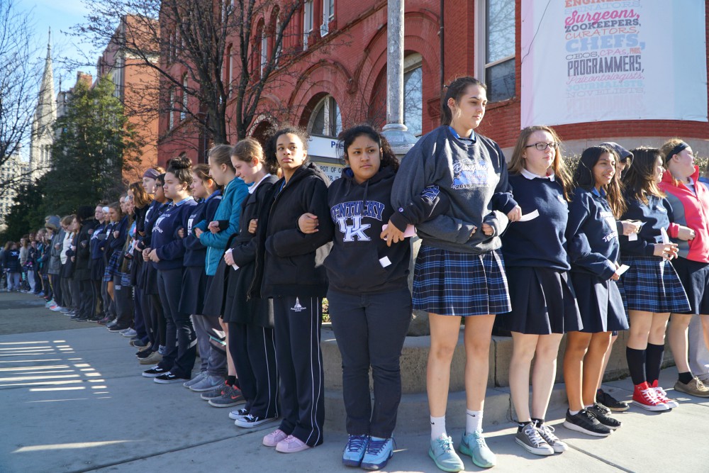
[[[479,255],[421,245],[413,270],[413,308],[442,316],[510,311],[502,255]]]

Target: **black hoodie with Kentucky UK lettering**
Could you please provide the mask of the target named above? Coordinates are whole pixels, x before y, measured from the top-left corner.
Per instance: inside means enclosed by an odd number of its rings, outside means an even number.
[[[407,224],[416,225],[440,215],[450,201],[441,201],[441,194],[429,189],[408,204],[406,211],[401,208],[395,212],[391,206],[394,177],[391,167],[382,167],[371,179],[357,184],[348,167],[342,170],[342,178],[330,185],[328,205],[335,234],[325,267],[331,289],[360,294],[407,286],[411,243],[406,240],[387,246],[379,236],[382,226],[391,218],[392,222],[401,222],[400,229],[404,230]]]

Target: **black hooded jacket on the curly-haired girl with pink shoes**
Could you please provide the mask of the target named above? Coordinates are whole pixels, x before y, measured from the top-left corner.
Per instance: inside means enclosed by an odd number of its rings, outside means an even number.
[[[328,208],[329,179],[312,162],[298,167],[288,184],[279,179],[269,191],[259,213],[254,284],[262,298],[278,296],[324,297],[328,277],[323,260],[333,239]],[[281,190],[281,186],[283,186]],[[303,213],[318,216],[318,232],[298,230]]]

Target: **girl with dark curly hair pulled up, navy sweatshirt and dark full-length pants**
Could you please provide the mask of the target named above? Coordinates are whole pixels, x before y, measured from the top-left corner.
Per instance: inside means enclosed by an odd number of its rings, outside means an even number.
[[[165,314],[165,353],[157,366],[143,372],[156,383],[169,384],[190,379],[196,347],[194,328],[189,313],[179,310],[184,272],[184,240],[178,231],[186,228],[196,202],[190,195],[191,161],[186,156],[170,160],[165,173],[164,192],[172,204],[155,221],[152,228],[150,261],[157,268],[157,289]]]

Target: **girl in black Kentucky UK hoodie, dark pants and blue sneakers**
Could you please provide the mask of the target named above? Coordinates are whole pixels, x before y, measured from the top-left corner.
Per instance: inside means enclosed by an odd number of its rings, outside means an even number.
[[[445,194],[431,187],[406,211],[395,212],[391,187],[398,160],[386,139],[371,126],[362,125],[345,130],[340,141],[348,167],[328,189],[335,234],[325,267],[330,318],[342,354],[350,434],[342,463],[381,469],[393,455],[392,435],[401,401],[399,358],[411,322],[411,245],[398,238],[402,243],[393,243],[384,228],[396,222],[401,227],[397,232],[403,233],[407,225],[440,215],[447,208],[439,205],[432,214]],[[317,226],[316,216],[310,213],[299,219],[303,233],[314,233]]]

